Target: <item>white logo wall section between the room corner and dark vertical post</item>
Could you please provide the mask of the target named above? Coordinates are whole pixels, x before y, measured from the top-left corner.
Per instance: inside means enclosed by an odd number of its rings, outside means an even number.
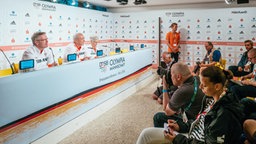
[[[159,22],[155,12],[114,14],[114,39],[121,47],[152,48],[152,64],[158,63]]]

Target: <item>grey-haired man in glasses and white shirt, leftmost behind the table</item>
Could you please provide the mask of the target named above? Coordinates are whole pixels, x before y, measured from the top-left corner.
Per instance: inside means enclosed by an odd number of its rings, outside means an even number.
[[[53,52],[48,48],[48,38],[45,32],[35,32],[31,37],[33,45],[28,47],[22,60],[34,59],[34,70],[56,66]]]

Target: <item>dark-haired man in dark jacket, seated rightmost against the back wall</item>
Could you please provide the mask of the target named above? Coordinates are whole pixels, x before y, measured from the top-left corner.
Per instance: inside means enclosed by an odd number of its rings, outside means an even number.
[[[229,66],[228,69],[232,71],[234,76],[241,77],[252,72],[253,64],[250,64],[247,53],[253,48],[253,42],[251,40],[244,41],[246,51],[243,53],[237,66]]]

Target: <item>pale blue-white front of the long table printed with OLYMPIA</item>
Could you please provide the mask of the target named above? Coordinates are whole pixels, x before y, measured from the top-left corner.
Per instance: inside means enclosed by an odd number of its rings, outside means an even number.
[[[0,78],[0,127],[151,63],[147,48]]]

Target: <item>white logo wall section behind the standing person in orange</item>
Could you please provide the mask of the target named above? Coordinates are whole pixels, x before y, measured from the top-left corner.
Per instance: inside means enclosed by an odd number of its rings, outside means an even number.
[[[227,65],[236,65],[246,50],[243,42],[255,42],[255,12],[255,8],[166,11],[161,21],[161,39],[165,39],[170,24],[176,22],[181,32],[182,61],[189,65],[201,61],[206,53],[204,42],[212,41]],[[165,44],[161,47],[167,50]]]

